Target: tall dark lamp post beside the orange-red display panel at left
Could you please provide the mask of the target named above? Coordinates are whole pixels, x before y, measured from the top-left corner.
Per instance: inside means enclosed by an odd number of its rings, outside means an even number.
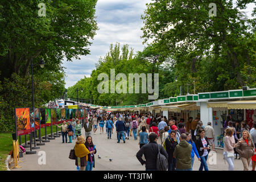
[[[40,59],[40,67],[44,68],[44,61]],[[36,64],[35,64],[36,65]],[[31,59],[31,81],[32,81],[32,110],[34,112],[34,80],[33,80],[33,59]],[[35,113],[34,113],[35,114]],[[31,125],[31,122],[30,122]],[[36,130],[35,130],[35,122],[34,122],[34,147],[32,147],[32,136],[31,136],[31,126],[30,126],[30,151],[26,151],[26,154],[36,154],[36,151],[32,151],[32,149],[39,149],[40,147],[36,147],[35,143]]]

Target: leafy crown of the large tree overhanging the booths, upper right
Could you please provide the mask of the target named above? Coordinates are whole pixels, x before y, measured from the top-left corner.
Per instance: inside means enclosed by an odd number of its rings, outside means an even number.
[[[210,3],[216,3],[217,16],[209,17]],[[192,77],[198,75],[201,60],[218,60],[218,67],[230,68],[225,69],[222,88],[241,88],[245,85],[242,69],[248,66],[251,73],[256,66],[255,47],[248,46],[249,40],[255,40],[255,18],[245,18],[240,10],[249,3],[255,1],[154,1],[142,16],[144,42],[153,39],[160,44]]]

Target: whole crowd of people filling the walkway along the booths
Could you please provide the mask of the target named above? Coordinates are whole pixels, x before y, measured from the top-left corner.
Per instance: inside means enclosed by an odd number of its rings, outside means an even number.
[[[96,148],[92,142],[92,136],[96,135],[98,127],[100,134],[106,133],[108,139],[113,138],[114,130],[117,133],[117,143],[121,140],[139,138],[139,151],[137,158],[142,165],[146,164],[146,170],[156,170],[156,159],[158,153],[166,156],[169,171],[192,171],[195,156],[200,162],[199,171],[208,171],[207,159],[210,152],[217,152],[214,146],[214,129],[208,122],[207,126],[199,118],[189,117],[188,121],[180,119],[177,122],[175,117],[168,121],[160,115],[154,117],[149,114],[135,113],[100,113],[96,110],[89,110],[88,118],[85,118],[85,137],[81,135],[81,124],[78,119],[73,119],[67,124],[64,122],[61,127],[61,134],[67,143],[76,139],[75,154],[77,156],[76,166],[80,170],[92,170]],[[230,117],[228,117],[229,119]],[[227,119],[227,120],[228,120]],[[227,124],[226,124],[227,123]],[[229,170],[234,170],[234,154],[239,154],[244,170],[249,170],[252,161],[255,170],[255,143],[256,123],[249,131],[242,123],[241,129],[238,123],[233,121],[225,122],[225,137],[223,156],[229,164]],[[105,127],[105,131],[104,131]],[[133,137],[133,138],[131,138]],[[158,140],[159,139],[159,140]],[[82,146],[84,144],[84,146]]]

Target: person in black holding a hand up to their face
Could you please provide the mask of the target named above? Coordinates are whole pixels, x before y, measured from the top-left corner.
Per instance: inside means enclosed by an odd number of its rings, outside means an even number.
[[[175,171],[176,159],[174,158],[174,150],[177,145],[176,131],[171,131],[170,135],[165,140],[166,152],[168,154],[168,171]]]

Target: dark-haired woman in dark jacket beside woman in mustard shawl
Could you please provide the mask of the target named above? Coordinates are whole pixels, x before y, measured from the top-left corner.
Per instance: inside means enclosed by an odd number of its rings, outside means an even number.
[[[96,148],[94,148],[92,137],[88,136],[86,138],[85,147],[88,148],[88,150],[90,151],[90,154],[88,154],[87,166],[85,168],[85,171],[92,171],[92,168],[95,168],[94,154],[96,154],[97,152]]]

